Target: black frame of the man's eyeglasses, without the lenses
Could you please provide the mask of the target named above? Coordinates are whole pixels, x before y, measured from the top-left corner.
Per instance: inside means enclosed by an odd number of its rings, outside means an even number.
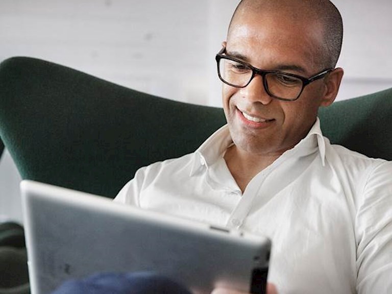
[[[250,82],[253,80],[253,78],[256,75],[260,75],[263,78],[263,85],[264,85],[265,92],[267,92],[267,94],[269,96],[274,97],[274,98],[279,99],[279,100],[283,100],[283,101],[295,101],[295,100],[297,100],[301,96],[304,88],[307,85],[309,85],[311,82],[314,82],[316,80],[324,78],[327,74],[329,74],[329,72],[334,70],[334,68],[326,68],[326,69],[323,69],[322,71],[318,72],[318,74],[316,74],[316,75],[314,75],[314,76],[312,76],[310,78],[305,78],[305,77],[302,77],[302,76],[299,76],[299,75],[295,75],[295,74],[290,74],[289,72],[284,72],[284,71],[259,69],[257,67],[252,66],[251,64],[249,64],[247,62],[244,62],[242,60],[239,60],[239,59],[237,59],[235,57],[231,57],[229,55],[224,55],[225,52],[226,52],[226,47],[223,47],[215,56],[217,70],[218,70],[218,76],[219,76],[219,79],[222,82],[224,82],[225,84],[227,84],[229,86],[232,86],[232,87],[245,88],[246,86],[248,86],[250,84]],[[243,64],[245,66],[248,66],[250,69],[252,69],[252,76],[249,79],[249,82],[246,85],[244,85],[244,86],[237,86],[237,85],[233,85],[233,84],[228,83],[227,81],[225,81],[222,78],[222,76],[220,76],[219,62],[220,62],[221,59],[229,59],[229,60],[238,62],[240,64]],[[267,75],[267,74],[280,74],[280,75],[285,75],[285,76],[289,76],[289,77],[300,79],[302,81],[302,89],[301,89],[300,93],[298,94],[298,96],[296,98],[294,98],[294,99],[287,99],[287,98],[282,98],[282,97],[275,96],[274,94],[269,92],[268,84],[267,84],[267,81],[265,79],[265,75]]]

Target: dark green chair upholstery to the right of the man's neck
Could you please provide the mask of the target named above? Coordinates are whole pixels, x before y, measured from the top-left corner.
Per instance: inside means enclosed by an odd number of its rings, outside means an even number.
[[[324,136],[373,158],[392,160],[392,88],[319,111]]]

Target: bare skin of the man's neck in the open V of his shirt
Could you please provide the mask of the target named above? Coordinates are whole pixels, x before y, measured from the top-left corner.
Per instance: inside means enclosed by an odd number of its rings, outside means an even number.
[[[230,173],[243,193],[249,182],[278,157],[279,155],[263,156],[250,154],[232,145],[226,151],[224,159]]]

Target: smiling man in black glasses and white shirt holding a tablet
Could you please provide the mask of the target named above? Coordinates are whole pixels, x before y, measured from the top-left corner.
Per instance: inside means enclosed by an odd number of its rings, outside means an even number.
[[[115,200],[268,236],[280,293],[392,292],[392,163],[331,145],[317,119],[341,39],[328,0],[243,0],[216,57],[228,125]]]

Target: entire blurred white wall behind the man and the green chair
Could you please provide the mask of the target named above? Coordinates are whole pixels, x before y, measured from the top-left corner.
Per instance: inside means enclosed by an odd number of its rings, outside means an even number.
[[[169,99],[220,106],[214,57],[238,2],[0,0],[0,60],[36,57]],[[345,27],[337,99],[392,87],[392,1],[332,2]],[[19,181],[6,151],[0,220],[22,221]]]

